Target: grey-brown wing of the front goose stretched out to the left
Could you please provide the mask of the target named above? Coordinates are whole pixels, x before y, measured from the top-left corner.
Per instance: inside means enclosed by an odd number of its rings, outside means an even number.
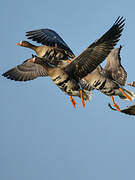
[[[47,76],[45,68],[41,64],[30,62],[31,59],[10,69],[2,74],[2,76],[15,81],[29,81],[40,76]]]

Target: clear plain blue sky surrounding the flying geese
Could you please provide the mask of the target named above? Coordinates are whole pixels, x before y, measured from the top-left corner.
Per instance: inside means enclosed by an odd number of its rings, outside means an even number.
[[[25,32],[54,29],[78,55],[118,16],[127,82],[135,80],[135,2],[123,0],[4,0],[0,6],[0,74],[31,57],[18,47]],[[1,180],[134,180],[135,117],[113,112],[97,91],[73,109],[49,78],[15,82],[0,77]],[[130,88],[135,91],[135,89]],[[121,107],[134,104],[115,98]]]

